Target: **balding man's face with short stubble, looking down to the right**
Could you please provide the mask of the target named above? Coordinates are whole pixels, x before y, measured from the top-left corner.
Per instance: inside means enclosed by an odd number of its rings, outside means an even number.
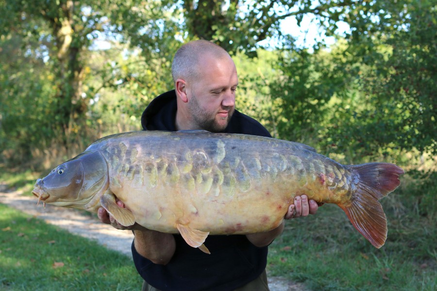
[[[208,58],[201,68],[200,78],[192,82],[188,96],[188,111],[194,127],[211,132],[226,128],[235,110],[235,90],[238,77],[231,58]]]

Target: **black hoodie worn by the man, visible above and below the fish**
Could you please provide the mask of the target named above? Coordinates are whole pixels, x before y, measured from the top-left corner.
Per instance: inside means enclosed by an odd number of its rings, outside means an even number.
[[[176,93],[166,92],[151,101],[141,116],[144,130],[175,131]],[[271,137],[253,118],[235,110],[223,131]],[[143,279],[162,291],[235,290],[256,279],[267,265],[268,247],[256,247],[245,235],[208,236],[211,254],[189,246],[180,235],[175,253],[167,265],[152,263],[139,255],[132,243],[135,267]]]

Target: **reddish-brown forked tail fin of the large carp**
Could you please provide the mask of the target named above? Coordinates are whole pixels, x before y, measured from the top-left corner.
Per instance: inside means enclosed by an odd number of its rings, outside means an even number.
[[[394,191],[403,169],[391,163],[365,163],[349,166],[359,182],[350,203],[339,205],[353,226],[376,248],[387,239],[387,219],[379,199]]]

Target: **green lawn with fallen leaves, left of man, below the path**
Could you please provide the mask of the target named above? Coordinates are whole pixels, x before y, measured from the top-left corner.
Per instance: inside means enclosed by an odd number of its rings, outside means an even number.
[[[0,290],[139,290],[132,259],[0,204]]]

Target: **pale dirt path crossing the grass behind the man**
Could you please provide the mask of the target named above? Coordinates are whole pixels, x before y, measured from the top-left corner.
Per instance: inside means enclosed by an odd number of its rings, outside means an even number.
[[[37,207],[33,196],[21,195],[20,191],[9,191],[7,185],[0,182],[0,203],[33,215],[46,223],[59,226],[70,233],[92,239],[127,256],[131,256],[131,244],[134,235],[131,231],[115,229],[102,224],[100,220],[85,213],[63,207],[42,203]],[[269,277],[271,291],[304,291],[303,284],[289,282],[280,277]]]

